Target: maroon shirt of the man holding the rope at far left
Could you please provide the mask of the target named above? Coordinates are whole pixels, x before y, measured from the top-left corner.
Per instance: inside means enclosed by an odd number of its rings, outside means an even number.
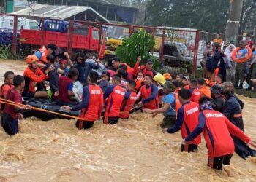
[[[15,103],[22,103],[22,97],[20,92],[15,89],[11,89],[7,92],[7,100],[13,101]],[[12,106],[10,104],[6,104],[4,108],[4,113],[9,114],[12,119],[18,119],[18,114],[15,113],[15,106]]]

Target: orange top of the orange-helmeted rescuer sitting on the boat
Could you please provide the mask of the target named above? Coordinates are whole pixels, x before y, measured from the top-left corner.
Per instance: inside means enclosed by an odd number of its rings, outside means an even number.
[[[23,76],[25,80],[25,92],[36,92],[35,87],[37,83],[42,82],[46,78],[46,75],[41,71],[40,68],[37,68],[36,71],[32,71],[29,67],[25,69]]]

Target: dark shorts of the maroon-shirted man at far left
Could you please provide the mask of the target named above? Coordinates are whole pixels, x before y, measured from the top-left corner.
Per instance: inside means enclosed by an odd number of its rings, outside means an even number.
[[[1,115],[1,126],[9,135],[15,135],[18,130],[18,119],[12,119],[9,114]]]

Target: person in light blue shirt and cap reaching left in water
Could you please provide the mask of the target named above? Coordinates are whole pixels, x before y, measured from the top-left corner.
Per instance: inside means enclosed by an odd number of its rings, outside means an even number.
[[[165,96],[162,98],[163,107],[157,109],[143,109],[146,113],[151,113],[153,116],[163,113],[164,119],[162,120],[161,127],[173,127],[176,121],[176,111],[175,111],[175,99],[174,99],[174,85],[172,82],[166,81],[162,84]]]

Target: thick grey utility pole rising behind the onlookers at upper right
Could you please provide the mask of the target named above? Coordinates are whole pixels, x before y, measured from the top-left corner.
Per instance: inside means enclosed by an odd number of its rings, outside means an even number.
[[[230,0],[230,9],[225,31],[225,42],[236,44],[244,0]]]

